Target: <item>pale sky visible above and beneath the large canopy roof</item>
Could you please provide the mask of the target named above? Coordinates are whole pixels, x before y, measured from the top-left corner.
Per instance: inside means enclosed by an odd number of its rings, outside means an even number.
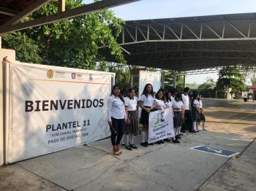
[[[83,0],[92,3],[93,0]],[[142,0],[112,8],[123,20],[143,20],[171,17],[191,17],[256,12],[256,0]],[[217,73],[189,75],[188,83],[206,82],[206,77],[215,81]]]

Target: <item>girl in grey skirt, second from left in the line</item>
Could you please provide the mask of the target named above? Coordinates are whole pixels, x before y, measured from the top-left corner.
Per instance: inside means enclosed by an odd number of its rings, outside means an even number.
[[[128,96],[124,98],[127,124],[125,126],[124,142],[127,150],[138,149],[134,144],[134,136],[138,134],[138,101],[135,98],[135,90],[130,88]]]

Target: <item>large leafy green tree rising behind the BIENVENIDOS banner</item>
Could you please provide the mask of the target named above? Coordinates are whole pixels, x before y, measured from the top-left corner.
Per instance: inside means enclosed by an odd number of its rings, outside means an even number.
[[[82,6],[80,0],[66,0],[66,9],[80,6]],[[52,1],[26,20],[34,20],[57,12],[58,3]],[[19,61],[95,69],[97,62],[105,61],[105,58],[99,55],[99,47],[102,46],[108,46],[110,54],[116,58],[116,61],[125,63],[121,48],[116,42],[116,36],[121,33],[123,24],[123,20],[115,17],[112,11],[105,9],[7,34],[3,38],[3,45],[15,49]],[[13,40],[9,41],[9,39]],[[15,43],[15,39],[18,39],[20,44]],[[29,56],[24,55],[31,50],[32,45],[35,47],[34,52],[29,52]]]

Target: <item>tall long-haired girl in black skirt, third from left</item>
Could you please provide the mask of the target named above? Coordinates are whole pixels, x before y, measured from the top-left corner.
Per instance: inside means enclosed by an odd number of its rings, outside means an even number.
[[[143,93],[140,95],[140,123],[143,125],[141,130],[141,146],[148,147],[148,116],[149,112],[156,106],[156,101],[154,98],[153,86],[151,84],[146,84]]]

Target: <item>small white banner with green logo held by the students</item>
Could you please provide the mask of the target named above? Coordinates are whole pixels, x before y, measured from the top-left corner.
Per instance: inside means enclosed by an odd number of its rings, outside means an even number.
[[[148,143],[174,137],[173,109],[150,112],[148,122]]]

